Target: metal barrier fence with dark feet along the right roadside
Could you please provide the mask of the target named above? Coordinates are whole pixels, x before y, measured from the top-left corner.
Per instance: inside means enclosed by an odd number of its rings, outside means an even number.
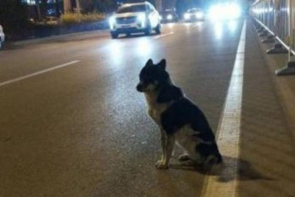
[[[257,0],[252,4],[250,14],[259,26],[276,38],[275,47],[268,52],[280,52],[276,48],[278,43],[287,49],[287,51],[281,50],[281,52],[289,52],[289,63],[286,68],[295,74],[295,63],[291,62],[291,53],[295,56],[295,1]],[[282,73],[293,74],[284,71]],[[280,71],[277,71],[277,74],[280,74]]]

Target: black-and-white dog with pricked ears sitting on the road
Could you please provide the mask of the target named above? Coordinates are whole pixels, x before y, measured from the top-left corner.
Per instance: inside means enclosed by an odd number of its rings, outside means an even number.
[[[173,84],[166,60],[154,64],[149,59],[139,79],[136,89],[144,93],[148,114],[161,133],[162,156],[156,167],[168,169],[175,143],[185,150],[180,161],[192,161],[203,170],[221,163],[222,156],[204,113]]]

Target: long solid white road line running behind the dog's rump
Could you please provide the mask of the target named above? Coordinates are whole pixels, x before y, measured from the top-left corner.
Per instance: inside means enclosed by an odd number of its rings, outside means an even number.
[[[246,21],[243,25],[230,86],[216,133],[217,144],[224,158],[224,165],[221,172],[219,172],[219,176],[206,177],[201,195],[202,197],[235,197],[237,195],[237,158],[240,151],[245,39]]]

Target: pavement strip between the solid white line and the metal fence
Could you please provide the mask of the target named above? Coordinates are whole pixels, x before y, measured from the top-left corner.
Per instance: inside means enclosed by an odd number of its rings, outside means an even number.
[[[294,196],[295,76],[277,77],[286,55],[265,55],[270,46],[258,42],[247,24],[239,197]]]

